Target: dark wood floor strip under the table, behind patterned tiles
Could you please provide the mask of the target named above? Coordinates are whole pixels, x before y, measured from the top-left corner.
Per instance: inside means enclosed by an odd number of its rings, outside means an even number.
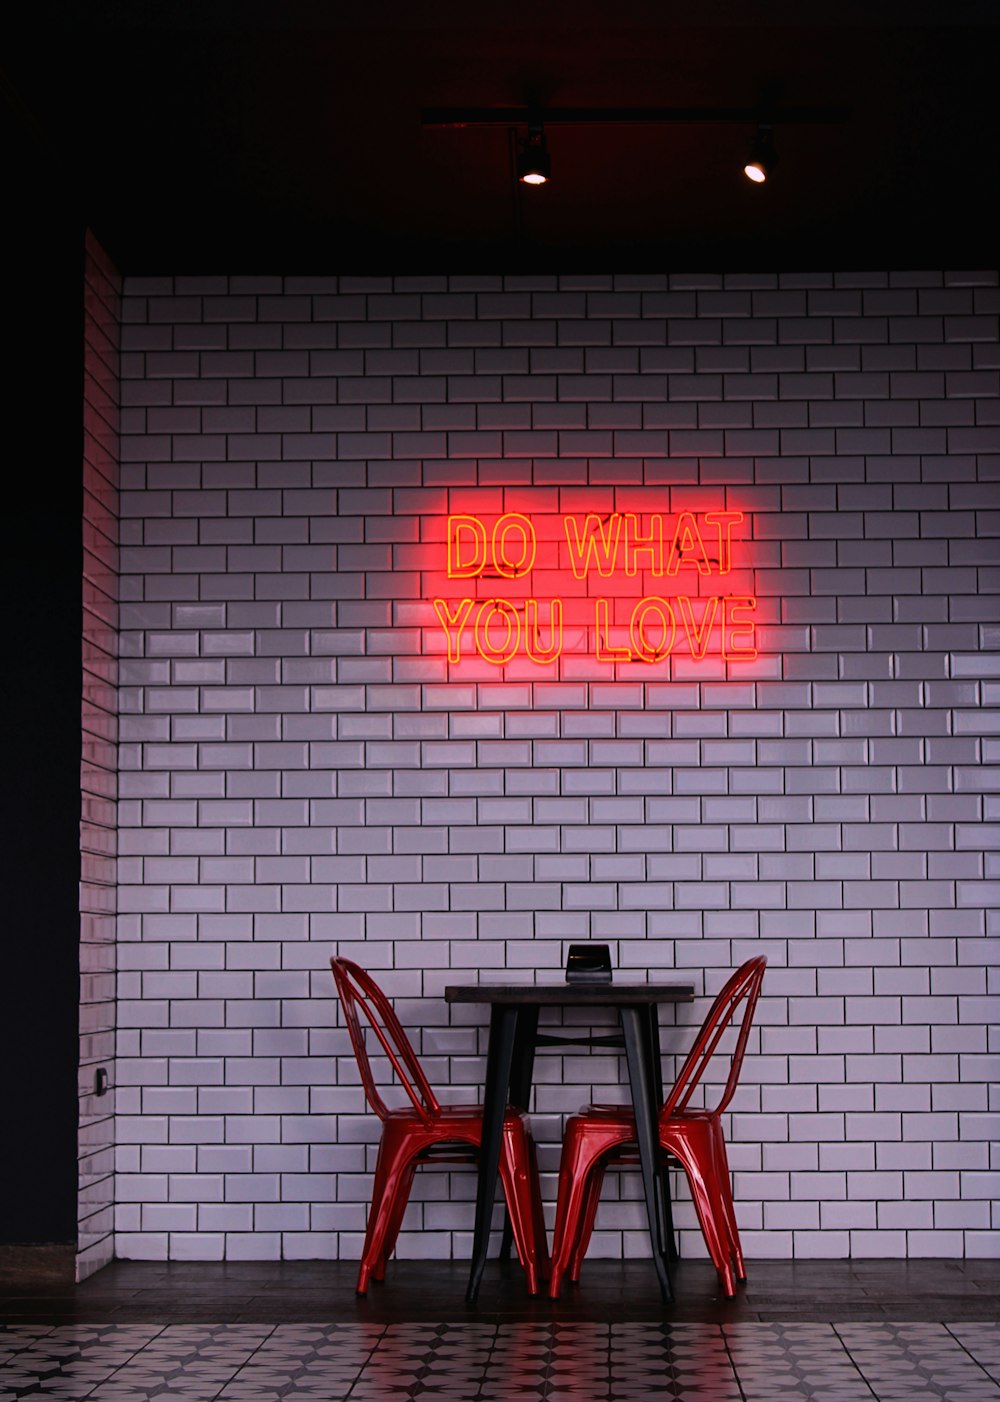
[[[705,1260],[676,1266],[663,1305],[648,1260],[590,1260],[562,1298],[532,1300],[516,1265],[489,1262],[477,1305],[460,1262],[393,1262],[355,1295],[348,1262],[112,1262],[80,1286],[55,1265],[0,1260],[3,1323],[603,1321],[996,1321],[1000,1260],[760,1260],[735,1300]]]

